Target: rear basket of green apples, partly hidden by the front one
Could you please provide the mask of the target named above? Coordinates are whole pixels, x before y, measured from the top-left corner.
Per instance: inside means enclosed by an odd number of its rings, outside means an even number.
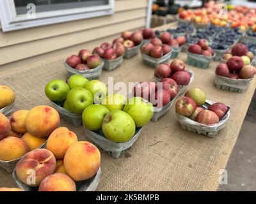
[[[107,95],[107,86],[99,80],[72,75],[68,83],[52,80],[45,86],[45,95],[60,117],[76,127],[82,125],[82,113],[87,106],[100,103]]]

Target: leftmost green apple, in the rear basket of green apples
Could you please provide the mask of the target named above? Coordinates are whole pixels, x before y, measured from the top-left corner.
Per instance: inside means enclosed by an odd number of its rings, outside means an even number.
[[[45,95],[51,101],[64,101],[67,98],[69,86],[63,80],[52,80],[45,86]]]

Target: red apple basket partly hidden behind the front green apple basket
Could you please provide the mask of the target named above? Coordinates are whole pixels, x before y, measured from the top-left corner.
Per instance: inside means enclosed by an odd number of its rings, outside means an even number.
[[[175,80],[166,78],[161,83],[140,82],[134,86],[132,96],[140,96],[154,105],[152,121],[157,122],[173,105],[179,87]]]

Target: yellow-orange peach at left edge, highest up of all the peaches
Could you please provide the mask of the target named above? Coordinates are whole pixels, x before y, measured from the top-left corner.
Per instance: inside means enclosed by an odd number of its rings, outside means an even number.
[[[15,92],[7,85],[0,85],[0,109],[15,101]]]

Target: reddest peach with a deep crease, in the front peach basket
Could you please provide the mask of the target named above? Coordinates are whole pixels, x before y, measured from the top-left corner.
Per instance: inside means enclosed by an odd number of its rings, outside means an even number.
[[[35,149],[25,154],[16,164],[18,179],[28,186],[39,186],[42,180],[54,173],[56,159],[47,149]]]

